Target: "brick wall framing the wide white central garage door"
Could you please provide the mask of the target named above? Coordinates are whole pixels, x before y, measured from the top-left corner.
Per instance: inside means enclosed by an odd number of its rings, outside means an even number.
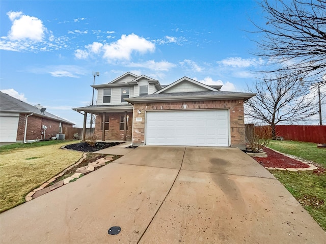
[[[186,104],[186,109],[183,105]],[[231,146],[243,148],[244,138],[244,115],[243,100],[216,100],[216,101],[193,101],[193,102],[166,102],[166,103],[135,103],[133,108],[133,135],[132,143],[144,144],[145,139],[145,111],[147,110],[192,110],[192,109],[229,109],[230,110],[230,135]],[[141,110],[141,114],[138,113]],[[135,121],[141,117],[142,121]]]

